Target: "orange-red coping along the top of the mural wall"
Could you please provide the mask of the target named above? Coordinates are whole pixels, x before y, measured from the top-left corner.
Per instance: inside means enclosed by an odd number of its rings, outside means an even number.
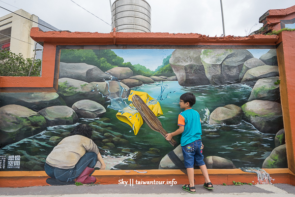
[[[146,44],[157,43],[163,44],[182,44],[183,42],[207,42],[207,43],[268,43],[274,44],[278,35],[249,35],[245,37],[228,35],[224,37],[208,37],[198,33],[89,33],[89,32],[42,32],[39,28],[32,28],[30,36],[37,42],[51,43],[118,43],[126,44]]]

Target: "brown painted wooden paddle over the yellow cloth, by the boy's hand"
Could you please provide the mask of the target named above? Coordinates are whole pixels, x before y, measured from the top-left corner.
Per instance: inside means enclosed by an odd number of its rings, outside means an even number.
[[[142,118],[147,122],[150,129],[161,133],[165,137],[168,132],[163,129],[161,122],[148,108],[148,105],[143,101],[143,99],[141,99],[138,95],[134,95],[132,97],[132,103]],[[177,145],[177,141],[175,141],[173,138],[169,142],[172,146]]]

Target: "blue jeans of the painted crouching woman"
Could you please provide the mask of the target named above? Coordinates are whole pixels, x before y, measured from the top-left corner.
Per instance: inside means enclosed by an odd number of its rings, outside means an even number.
[[[51,178],[55,178],[61,182],[71,182],[76,179],[86,167],[94,168],[97,162],[97,155],[94,152],[88,152],[83,155],[75,167],[70,169],[62,169],[53,167],[45,163],[45,172]],[[92,172],[93,173],[93,172]],[[91,174],[92,174],[91,173]]]

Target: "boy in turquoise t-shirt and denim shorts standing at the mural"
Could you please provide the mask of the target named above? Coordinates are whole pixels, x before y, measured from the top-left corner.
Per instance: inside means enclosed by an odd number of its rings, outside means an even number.
[[[192,93],[185,93],[180,96],[179,105],[184,109],[178,115],[179,129],[172,133],[166,134],[166,140],[170,141],[175,135],[181,134],[180,144],[184,158],[184,166],[187,169],[187,176],[189,180],[188,185],[183,185],[182,190],[189,193],[196,193],[194,183],[194,162],[198,165],[205,177],[204,187],[207,189],[214,189],[209,179],[207,167],[203,161],[202,155],[202,129],[200,114],[191,107],[196,103],[196,97]]]

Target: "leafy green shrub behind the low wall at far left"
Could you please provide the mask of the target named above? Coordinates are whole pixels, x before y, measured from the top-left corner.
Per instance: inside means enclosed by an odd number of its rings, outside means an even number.
[[[0,51],[0,76],[29,76],[33,58],[25,59],[22,54]],[[30,76],[40,76],[41,60],[35,60]]]

